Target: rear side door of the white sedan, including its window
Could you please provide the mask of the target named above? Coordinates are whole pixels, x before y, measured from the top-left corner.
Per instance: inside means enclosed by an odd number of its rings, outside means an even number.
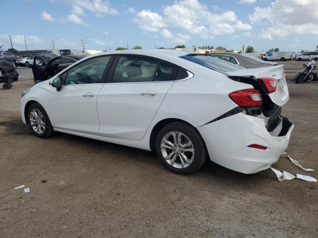
[[[141,140],[171,87],[178,67],[143,56],[117,56],[98,94],[101,136]]]

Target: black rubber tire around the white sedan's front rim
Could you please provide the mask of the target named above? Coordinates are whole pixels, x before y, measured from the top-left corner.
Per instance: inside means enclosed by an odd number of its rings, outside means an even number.
[[[30,121],[30,114],[31,114],[31,111],[35,109],[35,110],[38,110],[40,111],[40,113],[43,115],[43,118],[44,118],[44,122],[45,122],[45,128],[43,130],[43,132],[36,132],[36,130],[32,127],[31,125],[31,121]],[[54,134],[54,130],[53,130],[53,127],[52,127],[52,124],[51,124],[51,121],[47,115],[47,113],[45,112],[44,108],[38,104],[38,103],[34,103],[32,104],[29,109],[28,109],[28,113],[27,113],[27,120],[28,120],[28,123],[29,123],[29,127],[32,131],[32,133],[34,135],[36,135],[37,137],[40,137],[40,138],[47,138],[47,137],[50,137]],[[43,120],[42,120],[43,121]],[[39,126],[39,125],[38,125]]]

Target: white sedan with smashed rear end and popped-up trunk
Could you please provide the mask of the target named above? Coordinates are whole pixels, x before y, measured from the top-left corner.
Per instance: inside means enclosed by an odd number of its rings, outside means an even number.
[[[21,116],[55,131],[156,150],[188,174],[210,159],[245,174],[268,169],[294,125],[283,65],[245,69],[204,54],[127,50],[86,57],[24,91]]]

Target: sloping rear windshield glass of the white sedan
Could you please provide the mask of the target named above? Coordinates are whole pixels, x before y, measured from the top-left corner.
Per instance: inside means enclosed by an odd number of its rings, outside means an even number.
[[[227,73],[245,69],[242,66],[224,60],[220,60],[209,55],[186,55],[180,56],[180,58],[200,64],[204,67],[210,68],[220,73]]]

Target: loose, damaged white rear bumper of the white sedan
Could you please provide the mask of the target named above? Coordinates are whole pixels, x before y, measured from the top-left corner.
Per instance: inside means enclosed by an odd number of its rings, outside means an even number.
[[[244,174],[266,170],[276,163],[288,147],[294,125],[281,120],[277,136],[268,132],[264,119],[239,113],[199,126],[211,161]],[[260,150],[247,147],[257,144],[267,147]]]

